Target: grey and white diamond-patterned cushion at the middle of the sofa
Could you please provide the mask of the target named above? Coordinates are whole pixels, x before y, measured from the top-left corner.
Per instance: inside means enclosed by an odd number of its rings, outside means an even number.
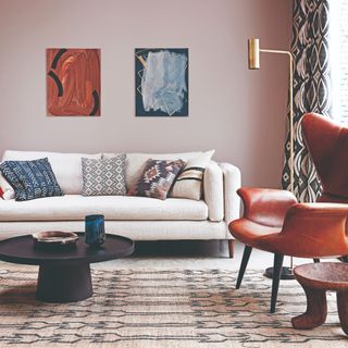
[[[111,159],[82,159],[84,196],[124,196],[126,154]]]

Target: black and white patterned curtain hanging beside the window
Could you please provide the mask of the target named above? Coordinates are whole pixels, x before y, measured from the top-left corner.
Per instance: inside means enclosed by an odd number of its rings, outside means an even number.
[[[331,113],[328,61],[330,0],[294,0],[291,53],[294,57],[294,190],[301,202],[321,192],[315,169],[303,144],[300,122],[306,112]],[[289,130],[285,145],[283,188],[290,188]]]

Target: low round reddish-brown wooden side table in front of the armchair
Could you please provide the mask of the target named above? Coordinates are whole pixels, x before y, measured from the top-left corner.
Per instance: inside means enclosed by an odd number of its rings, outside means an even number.
[[[307,297],[306,313],[291,319],[294,328],[322,325],[327,315],[326,291],[337,293],[337,310],[343,331],[348,335],[348,263],[302,264],[294,270]]]

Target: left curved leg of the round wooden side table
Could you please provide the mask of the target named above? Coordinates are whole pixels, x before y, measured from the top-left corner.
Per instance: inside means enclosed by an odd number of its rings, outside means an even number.
[[[326,291],[302,285],[307,297],[306,313],[291,319],[294,328],[314,328],[322,325],[327,315]]]

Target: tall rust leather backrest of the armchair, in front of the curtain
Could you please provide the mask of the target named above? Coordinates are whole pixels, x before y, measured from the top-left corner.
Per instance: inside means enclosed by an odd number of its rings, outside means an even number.
[[[318,201],[348,203],[348,128],[315,113],[304,114],[301,126],[323,186]]]

